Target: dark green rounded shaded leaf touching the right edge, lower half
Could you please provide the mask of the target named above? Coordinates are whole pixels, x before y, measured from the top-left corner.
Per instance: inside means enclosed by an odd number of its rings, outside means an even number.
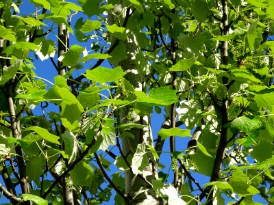
[[[272,157],[272,151],[273,143],[269,143],[268,141],[261,139],[260,142],[253,147],[251,157],[262,162]]]

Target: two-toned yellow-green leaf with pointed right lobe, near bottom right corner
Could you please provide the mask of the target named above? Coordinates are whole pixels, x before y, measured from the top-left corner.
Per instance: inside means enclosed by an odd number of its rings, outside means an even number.
[[[232,177],[229,178],[229,184],[232,186],[234,193],[240,196],[254,195],[260,193],[258,189],[248,184],[249,178],[241,170],[235,170]]]

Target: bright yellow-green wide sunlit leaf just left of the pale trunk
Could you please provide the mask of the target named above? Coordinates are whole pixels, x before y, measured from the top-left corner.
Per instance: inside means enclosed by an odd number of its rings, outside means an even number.
[[[121,79],[121,77],[123,77],[124,75],[125,72],[123,72],[121,66],[113,69],[97,67],[93,70],[86,70],[86,74],[84,74],[87,79],[98,83],[117,81]]]

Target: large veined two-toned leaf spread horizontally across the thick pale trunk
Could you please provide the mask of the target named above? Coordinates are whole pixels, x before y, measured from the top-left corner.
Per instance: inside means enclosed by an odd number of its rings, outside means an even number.
[[[169,90],[169,87],[152,88],[148,96],[144,92],[136,91],[138,102],[145,102],[148,105],[171,105],[178,101],[177,90]]]

